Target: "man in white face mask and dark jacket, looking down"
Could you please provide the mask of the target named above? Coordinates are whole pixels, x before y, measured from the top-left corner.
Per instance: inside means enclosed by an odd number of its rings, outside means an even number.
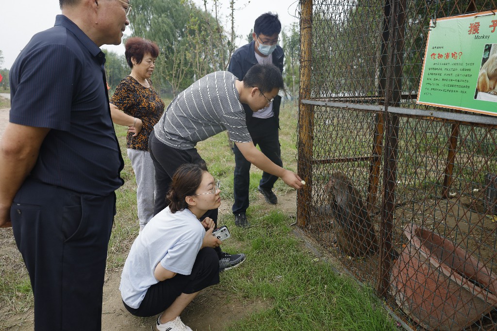
[[[237,49],[233,54],[228,71],[239,80],[253,65],[272,63],[283,72],[283,49],[278,45],[281,23],[277,14],[270,12],[257,17],[253,27],[253,41]],[[261,152],[276,165],[282,166],[280,144],[278,137],[279,110],[281,97],[276,95],[273,100],[268,100],[269,106],[254,113],[247,104],[243,104],[247,117],[247,128],[255,146],[259,145]],[[246,211],[248,208],[248,187],[250,181],[250,162],[235,146],[235,173],[234,193],[235,202],[232,210],[235,214],[235,224],[240,227],[249,226]],[[277,176],[267,172],[262,173],[262,179],[257,189],[266,201],[276,204],[278,199],[272,188],[278,179]]]

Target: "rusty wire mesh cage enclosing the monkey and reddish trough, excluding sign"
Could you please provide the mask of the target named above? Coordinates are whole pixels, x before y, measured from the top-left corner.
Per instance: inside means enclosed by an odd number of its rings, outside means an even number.
[[[297,223],[405,324],[497,329],[497,117],[416,104],[430,19],[495,0],[300,0]]]

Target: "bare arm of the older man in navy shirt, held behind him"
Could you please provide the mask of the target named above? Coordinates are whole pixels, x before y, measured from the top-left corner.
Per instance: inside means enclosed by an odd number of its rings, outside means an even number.
[[[10,206],[38,159],[49,128],[8,123],[0,142],[0,227],[9,227]]]

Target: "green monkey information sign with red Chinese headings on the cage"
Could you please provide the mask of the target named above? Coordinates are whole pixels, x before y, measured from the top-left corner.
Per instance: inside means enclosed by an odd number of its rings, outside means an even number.
[[[497,115],[497,15],[431,22],[417,103]]]

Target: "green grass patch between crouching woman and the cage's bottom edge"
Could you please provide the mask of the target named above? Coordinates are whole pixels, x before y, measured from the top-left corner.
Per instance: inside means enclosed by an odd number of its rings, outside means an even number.
[[[279,211],[254,216],[260,217],[258,225],[248,230],[225,222],[248,258],[243,267],[224,273],[219,286],[239,299],[273,304],[228,330],[396,330],[372,289],[359,288],[305,252],[291,235],[293,219]],[[230,251],[233,242],[225,244],[223,250]]]

